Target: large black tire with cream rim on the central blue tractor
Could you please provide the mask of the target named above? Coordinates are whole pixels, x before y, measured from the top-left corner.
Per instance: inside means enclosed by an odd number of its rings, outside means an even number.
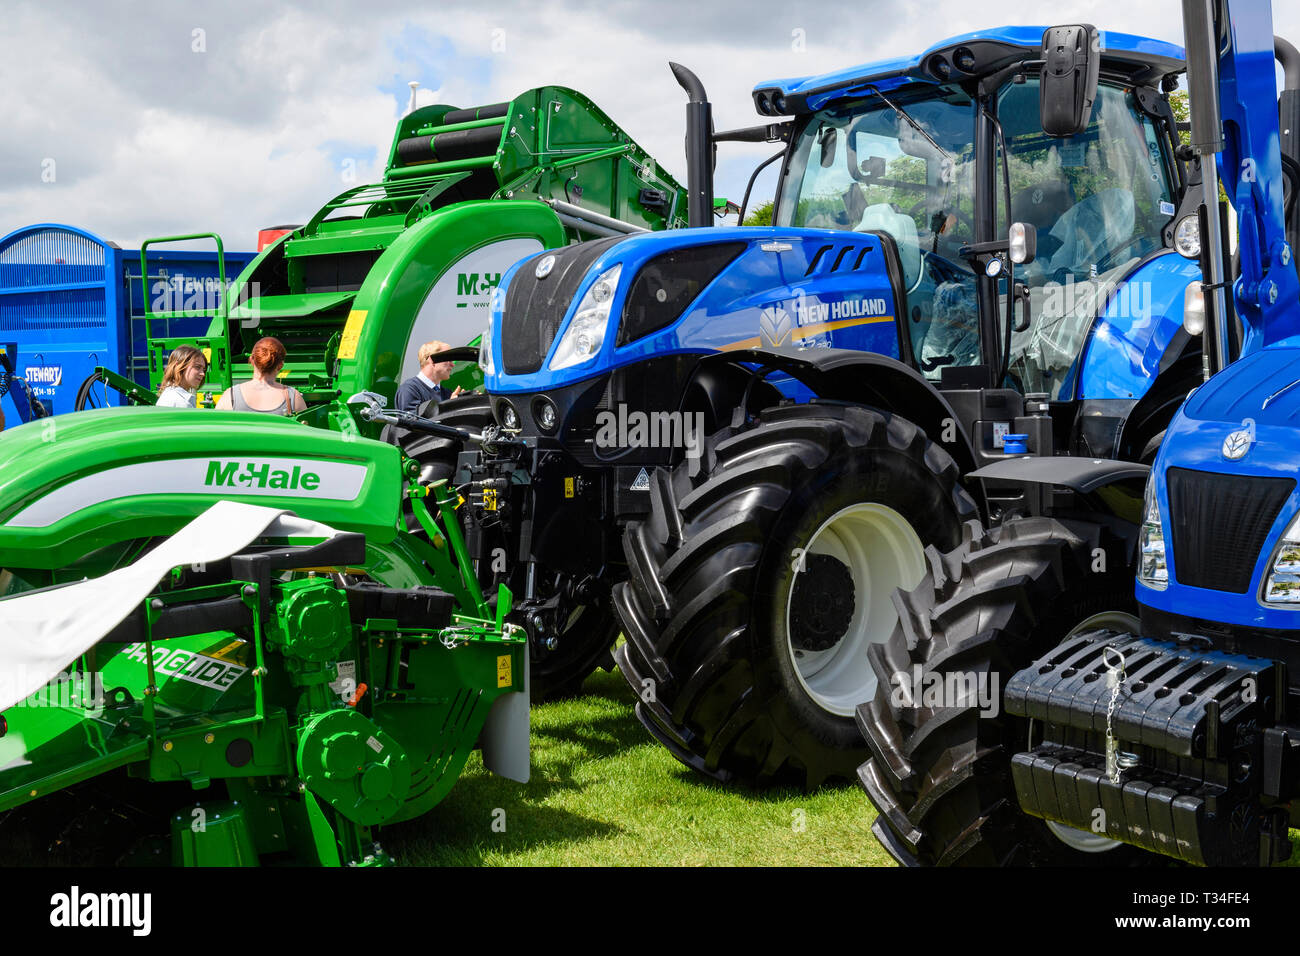
[[[718,780],[853,779],[867,649],[893,631],[889,596],[922,579],[924,549],[954,546],[975,518],[959,479],[910,421],[820,403],[768,408],[658,471],[615,588],[615,658],[641,722]]]

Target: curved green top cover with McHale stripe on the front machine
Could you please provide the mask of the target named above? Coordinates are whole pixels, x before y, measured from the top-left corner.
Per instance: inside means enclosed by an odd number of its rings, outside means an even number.
[[[229,499],[294,511],[376,544],[402,501],[396,447],[291,419],[103,408],[0,434],[0,567],[62,568],[126,538],[173,535]]]

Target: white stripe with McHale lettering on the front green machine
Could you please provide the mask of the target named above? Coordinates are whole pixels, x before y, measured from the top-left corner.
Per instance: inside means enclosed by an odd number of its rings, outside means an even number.
[[[315,489],[259,486],[256,481],[240,484],[205,484],[211,464],[235,466],[237,475],[246,473],[248,466],[269,472],[292,473],[296,466],[300,473],[312,472],[320,476]],[[164,462],[140,462],[109,468],[95,475],[86,475],[56,488],[49,494],[38,498],[6,522],[10,528],[48,528],[91,505],[105,501],[125,501],[146,494],[199,494],[209,498],[234,498],[243,496],[277,498],[330,498],[334,501],[356,501],[361,492],[368,468],[364,464],[343,462],[324,462],[309,458],[181,458]]]

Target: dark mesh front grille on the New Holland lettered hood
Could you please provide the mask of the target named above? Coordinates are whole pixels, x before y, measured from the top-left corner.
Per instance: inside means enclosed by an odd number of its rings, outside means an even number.
[[[555,265],[546,278],[537,278],[534,272],[541,258],[515,273],[500,317],[502,364],[508,375],[526,375],[542,367],[586,271],[604,250],[624,238],[616,235],[547,252],[555,256]]]

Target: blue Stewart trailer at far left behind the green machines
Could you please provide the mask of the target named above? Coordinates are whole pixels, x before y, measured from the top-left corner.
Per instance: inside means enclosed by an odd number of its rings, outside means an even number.
[[[225,252],[222,263],[213,251],[148,248],[142,284],[138,250],[57,222],[16,229],[0,239],[0,352],[49,414],[73,410],[96,365],[148,388],[144,297],[152,312],[195,312],[152,319],[155,338],[202,336],[225,286],[255,255]],[[112,389],[104,399],[122,401]],[[9,421],[25,420],[13,402],[10,394],[3,406]]]

